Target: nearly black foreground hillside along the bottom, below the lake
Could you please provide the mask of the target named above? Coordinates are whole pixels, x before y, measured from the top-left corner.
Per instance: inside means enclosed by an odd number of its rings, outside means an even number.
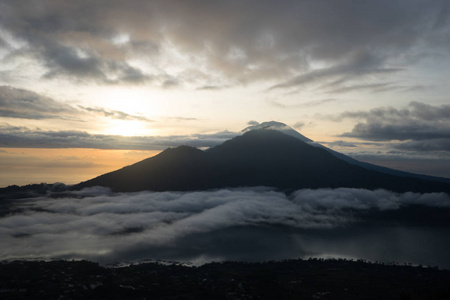
[[[349,260],[2,262],[0,299],[450,299],[450,271]]]

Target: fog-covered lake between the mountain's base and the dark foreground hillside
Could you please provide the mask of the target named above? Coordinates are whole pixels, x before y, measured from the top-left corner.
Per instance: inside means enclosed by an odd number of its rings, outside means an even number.
[[[450,197],[442,193],[96,187],[8,203],[0,217],[0,259],[199,264],[346,257],[450,268]]]

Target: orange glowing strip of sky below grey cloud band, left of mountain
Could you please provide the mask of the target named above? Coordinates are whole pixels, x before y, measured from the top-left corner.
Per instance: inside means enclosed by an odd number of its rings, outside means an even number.
[[[160,151],[101,149],[0,149],[0,187],[31,183],[75,184],[131,165]]]

